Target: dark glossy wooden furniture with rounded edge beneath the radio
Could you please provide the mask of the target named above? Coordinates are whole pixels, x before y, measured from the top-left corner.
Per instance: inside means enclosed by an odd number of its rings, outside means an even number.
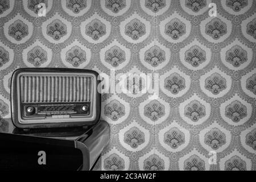
[[[92,127],[22,130],[11,119],[1,119],[0,169],[92,170],[109,133],[105,121]],[[46,164],[38,162],[40,151],[46,154]]]

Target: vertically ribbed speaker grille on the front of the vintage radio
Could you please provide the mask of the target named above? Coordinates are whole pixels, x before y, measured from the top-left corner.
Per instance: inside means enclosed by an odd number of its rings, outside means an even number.
[[[92,77],[20,76],[22,103],[90,102]]]

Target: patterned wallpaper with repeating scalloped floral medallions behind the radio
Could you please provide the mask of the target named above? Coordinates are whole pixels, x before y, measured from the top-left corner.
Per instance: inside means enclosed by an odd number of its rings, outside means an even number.
[[[16,68],[159,73],[155,100],[138,77],[102,95],[101,169],[255,170],[255,12],[252,0],[0,0],[1,117]]]

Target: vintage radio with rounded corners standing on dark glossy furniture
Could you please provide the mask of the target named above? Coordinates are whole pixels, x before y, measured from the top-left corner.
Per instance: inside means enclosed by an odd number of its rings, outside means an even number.
[[[21,68],[11,78],[13,123],[22,129],[95,125],[98,73],[85,69]]]

